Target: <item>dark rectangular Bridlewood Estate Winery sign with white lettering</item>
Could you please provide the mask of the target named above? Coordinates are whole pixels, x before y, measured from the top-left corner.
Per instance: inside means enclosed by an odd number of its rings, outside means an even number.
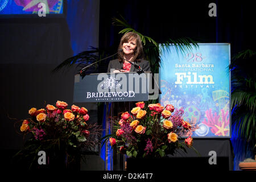
[[[158,98],[158,87],[153,90],[151,83],[151,73],[99,73],[83,79],[76,75],[73,102],[148,101]]]

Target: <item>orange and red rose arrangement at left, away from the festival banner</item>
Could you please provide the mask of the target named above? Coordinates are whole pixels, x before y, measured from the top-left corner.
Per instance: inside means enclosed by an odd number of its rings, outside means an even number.
[[[40,150],[77,152],[82,147],[95,146],[97,142],[93,137],[100,137],[100,126],[86,123],[90,117],[85,107],[67,107],[67,102],[57,101],[56,106],[48,104],[43,109],[28,110],[30,118],[22,121],[19,131],[31,137],[18,154],[37,156]]]

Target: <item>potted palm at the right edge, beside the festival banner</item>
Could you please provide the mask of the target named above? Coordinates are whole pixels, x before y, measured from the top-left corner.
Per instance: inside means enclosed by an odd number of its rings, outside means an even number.
[[[255,55],[256,52],[250,49],[241,51],[233,57],[229,66],[230,71],[232,71],[233,138],[243,141],[245,152],[242,153],[251,156],[256,142],[256,75],[254,68],[247,67],[247,65],[253,65]],[[234,150],[236,148],[240,150],[236,152],[238,154],[244,150],[241,146],[238,147],[236,143],[233,146]],[[241,169],[245,169],[247,164],[249,163],[240,163],[239,166]],[[253,165],[256,167],[255,161]]]

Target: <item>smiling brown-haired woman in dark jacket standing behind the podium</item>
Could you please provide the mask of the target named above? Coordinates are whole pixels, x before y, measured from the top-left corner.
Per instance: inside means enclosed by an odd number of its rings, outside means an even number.
[[[118,59],[109,62],[108,73],[150,71],[150,63],[143,59],[141,38],[134,32],[122,36],[118,46]]]

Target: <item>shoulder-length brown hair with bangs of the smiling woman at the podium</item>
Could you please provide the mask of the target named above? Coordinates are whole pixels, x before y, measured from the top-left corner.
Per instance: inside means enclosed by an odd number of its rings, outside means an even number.
[[[141,37],[138,34],[136,34],[135,32],[128,32],[122,36],[119,46],[118,46],[118,60],[119,61],[123,61],[124,53],[123,53],[123,51],[121,51],[122,47],[123,47],[123,43],[128,42],[129,40],[134,40],[134,39],[136,40],[137,47],[135,49],[134,57],[131,61],[135,61],[137,59],[143,58],[144,53],[143,53],[143,46],[141,43]]]

